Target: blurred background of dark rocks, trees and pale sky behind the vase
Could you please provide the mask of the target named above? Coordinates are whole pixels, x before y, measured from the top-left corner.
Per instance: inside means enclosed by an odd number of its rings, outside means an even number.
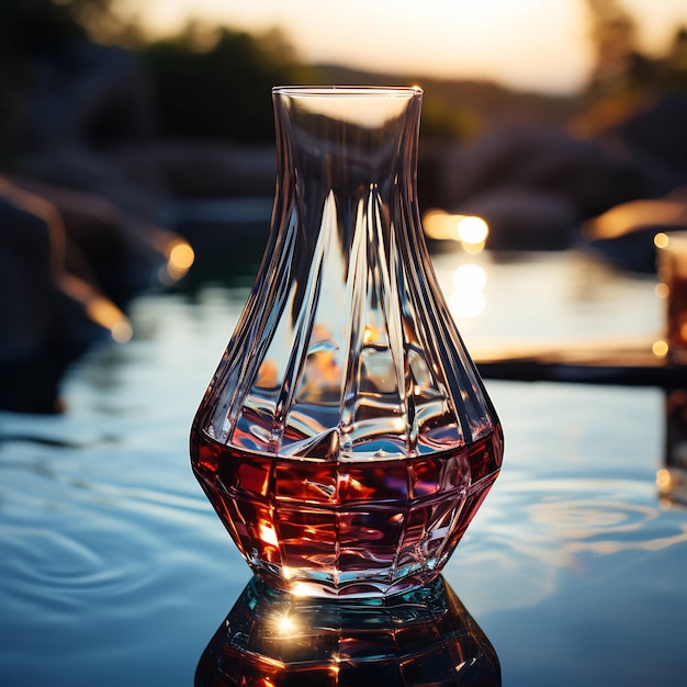
[[[425,89],[435,254],[582,245],[651,274],[687,228],[680,0],[3,0],[0,407],[60,409],[142,292],[250,282],[283,83]]]

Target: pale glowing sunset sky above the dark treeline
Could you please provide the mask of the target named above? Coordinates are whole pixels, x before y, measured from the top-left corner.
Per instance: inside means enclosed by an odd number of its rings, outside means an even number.
[[[585,0],[120,0],[158,35],[189,19],[255,33],[279,26],[302,61],[487,78],[511,88],[572,93],[594,56]],[[620,0],[640,47],[662,54],[687,0]]]

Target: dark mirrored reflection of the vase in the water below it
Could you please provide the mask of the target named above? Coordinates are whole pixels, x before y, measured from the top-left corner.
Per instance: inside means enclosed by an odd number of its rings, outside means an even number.
[[[439,576],[373,599],[295,597],[254,577],[198,665],[196,687],[497,687],[494,647]]]

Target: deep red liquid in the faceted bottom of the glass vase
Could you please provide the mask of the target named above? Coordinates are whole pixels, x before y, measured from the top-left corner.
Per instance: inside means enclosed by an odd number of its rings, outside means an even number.
[[[360,462],[192,442],[193,471],[237,547],[275,586],[386,594],[433,578],[498,475],[500,428],[457,451]]]

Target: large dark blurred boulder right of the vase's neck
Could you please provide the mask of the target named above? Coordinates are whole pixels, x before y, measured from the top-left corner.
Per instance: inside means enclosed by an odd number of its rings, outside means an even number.
[[[520,236],[529,247],[537,236],[548,245],[564,247],[571,222],[579,223],[637,198],[658,198],[678,181],[658,160],[647,164],[632,151],[533,125],[486,134],[457,153],[446,173],[453,210],[470,214],[471,209],[488,205],[499,222],[508,215],[509,225],[521,227]],[[547,217],[551,221],[548,233],[525,230],[530,222],[542,227]],[[555,232],[558,239],[552,237]],[[518,248],[517,238],[514,233],[509,241],[514,248]]]

